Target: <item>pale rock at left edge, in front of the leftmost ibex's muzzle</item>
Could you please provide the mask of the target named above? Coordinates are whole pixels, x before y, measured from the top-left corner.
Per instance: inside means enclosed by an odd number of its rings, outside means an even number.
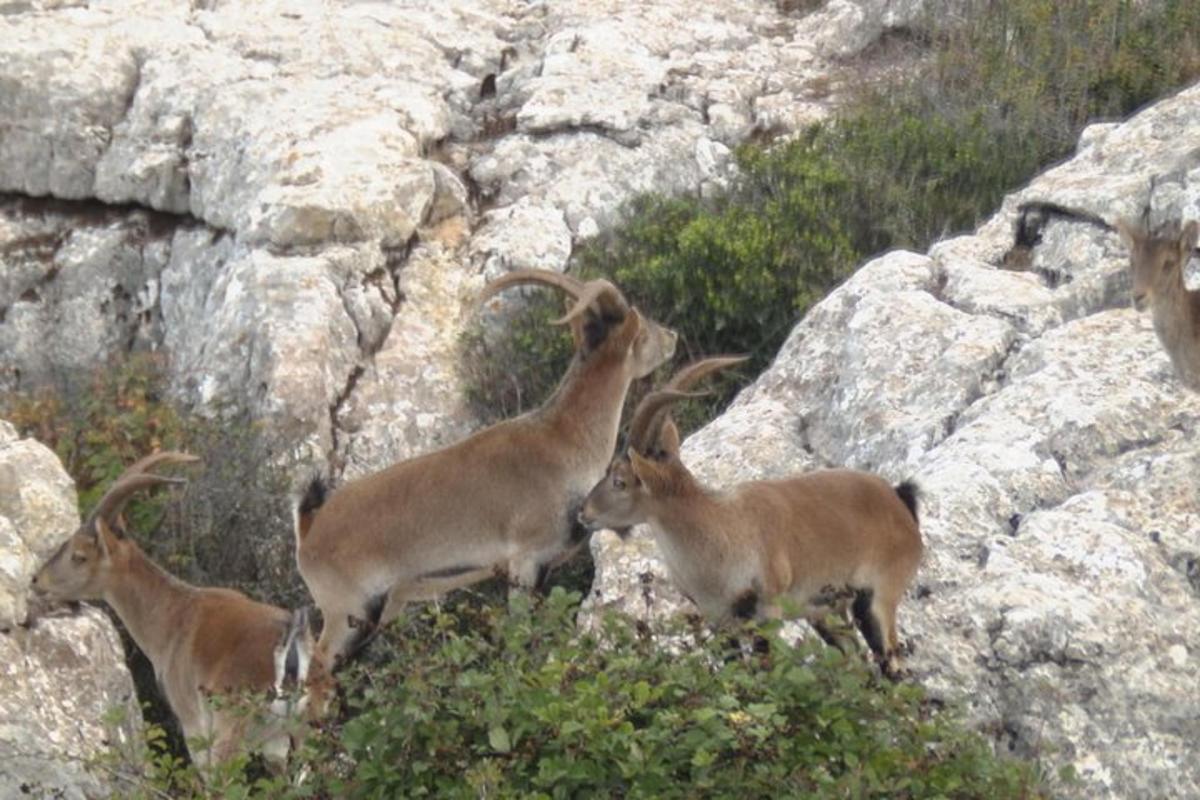
[[[132,752],[142,722],[116,630],[95,608],[26,619],[29,581],[79,525],[54,453],[0,420],[0,796],[100,798],[90,762]],[[112,765],[116,765],[114,762]]]

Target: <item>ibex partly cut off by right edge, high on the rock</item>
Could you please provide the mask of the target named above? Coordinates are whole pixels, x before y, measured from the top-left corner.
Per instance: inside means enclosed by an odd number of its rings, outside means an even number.
[[[1151,307],[1154,332],[1176,374],[1183,385],[1200,391],[1200,291],[1183,283],[1183,267],[1195,252],[1200,223],[1170,222],[1150,231],[1122,219],[1116,229],[1129,246],[1134,307]]]

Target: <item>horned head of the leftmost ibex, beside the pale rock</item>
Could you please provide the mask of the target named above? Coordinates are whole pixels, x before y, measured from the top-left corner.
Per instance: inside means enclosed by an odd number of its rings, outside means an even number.
[[[140,489],[162,483],[181,483],[182,479],[152,475],[148,470],[160,464],[182,464],[199,458],[181,452],[160,452],[132,464],[104,497],[96,510],[65,541],[37,575],[32,589],[50,600],[101,600],[107,587],[119,579],[121,552],[127,545],[113,533],[125,504]]]

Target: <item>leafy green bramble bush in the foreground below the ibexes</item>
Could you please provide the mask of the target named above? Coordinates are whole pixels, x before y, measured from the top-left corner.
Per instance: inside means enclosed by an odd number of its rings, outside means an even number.
[[[414,615],[385,662],[343,675],[348,717],[310,738],[290,776],[224,796],[1044,796],[1030,765],[859,654],[793,648],[775,628],[768,656],[698,627],[660,631],[678,644],[664,648],[625,618],[581,632],[577,610],[556,589]],[[156,781],[181,796],[167,766]]]

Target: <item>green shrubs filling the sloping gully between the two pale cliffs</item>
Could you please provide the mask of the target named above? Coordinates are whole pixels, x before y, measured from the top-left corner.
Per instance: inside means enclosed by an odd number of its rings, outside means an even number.
[[[1200,4],[1182,0],[972,0],[925,29],[913,41],[931,50],[913,70],[787,143],[740,149],[740,180],[720,197],[635,199],[623,224],[575,253],[572,271],[612,278],[676,327],[677,363],[748,353],[744,372],[756,374],[865,258],[973,227],[1068,155],[1088,121],[1200,76]],[[522,409],[536,405],[565,368],[546,308],[467,349],[470,395],[490,419],[509,415],[518,392]],[[737,385],[719,379],[684,427]]]

